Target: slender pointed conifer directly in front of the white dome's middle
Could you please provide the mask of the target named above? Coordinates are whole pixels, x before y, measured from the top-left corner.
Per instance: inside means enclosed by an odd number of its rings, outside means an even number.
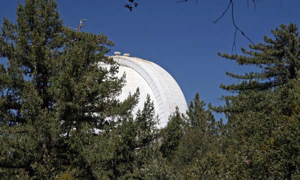
[[[147,176],[149,169],[146,166],[156,160],[159,150],[158,120],[153,101],[147,95],[143,109],[136,112],[136,118],[126,120],[125,123],[130,125],[122,125],[122,132],[116,133],[122,136],[126,144],[122,148],[126,172],[119,176],[120,179],[144,179]]]

